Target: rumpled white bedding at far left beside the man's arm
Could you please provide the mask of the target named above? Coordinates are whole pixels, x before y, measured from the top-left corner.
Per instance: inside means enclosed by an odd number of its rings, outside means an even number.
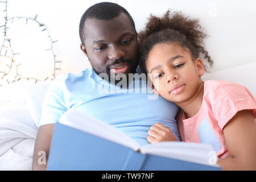
[[[40,110],[50,82],[0,87],[0,170],[31,170]]]

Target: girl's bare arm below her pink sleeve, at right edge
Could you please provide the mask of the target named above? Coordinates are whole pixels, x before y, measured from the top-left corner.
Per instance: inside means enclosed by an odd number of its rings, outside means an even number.
[[[223,131],[229,157],[218,159],[222,170],[256,170],[256,124],[252,111],[239,111]]]

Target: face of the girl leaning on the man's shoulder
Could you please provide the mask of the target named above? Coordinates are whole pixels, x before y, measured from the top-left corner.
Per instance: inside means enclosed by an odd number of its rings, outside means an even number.
[[[188,101],[201,84],[203,62],[192,60],[188,49],[176,43],[156,44],[148,54],[147,73],[152,73],[152,90],[168,101]]]

